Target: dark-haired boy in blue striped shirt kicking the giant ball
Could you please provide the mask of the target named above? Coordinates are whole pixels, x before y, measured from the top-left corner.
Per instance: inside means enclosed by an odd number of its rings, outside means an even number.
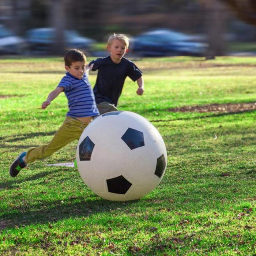
[[[40,147],[31,147],[15,159],[9,171],[12,177],[17,176],[28,163],[48,157],[69,142],[75,139],[79,140],[84,128],[93,117],[99,115],[94,93],[86,74],[86,56],[80,50],[71,49],[65,53],[64,61],[66,75],[61,79],[59,85],[49,93],[41,108],[46,109],[53,99],[64,91],[68,99],[67,117],[50,143]]]

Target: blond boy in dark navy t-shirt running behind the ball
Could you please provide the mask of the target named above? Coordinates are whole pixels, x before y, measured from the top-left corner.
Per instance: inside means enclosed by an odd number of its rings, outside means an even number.
[[[108,39],[107,49],[110,55],[89,63],[90,70],[98,70],[93,91],[101,114],[117,110],[117,102],[127,76],[133,82],[137,82],[136,93],[138,95],[144,93],[142,71],[132,61],[124,58],[128,47],[129,38],[125,34],[114,33]]]

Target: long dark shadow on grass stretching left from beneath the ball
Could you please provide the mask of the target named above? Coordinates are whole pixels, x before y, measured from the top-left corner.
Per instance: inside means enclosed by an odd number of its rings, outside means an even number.
[[[79,202],[74,202],[79,201]],[[99,212],[110,212],[118,208],[127,208],[129,202],[112,202],[104,200],[95,195],[86,197],[69,197],[66,200],[56,200],[51,202],[41,201],[37,205],[22,206],[15,208],[16,212],[4,214],[0,218],[0,230],[15,228],[16,226],[29,226],[31,224],[45,224],[56,222],[68,218],[89,217]]]

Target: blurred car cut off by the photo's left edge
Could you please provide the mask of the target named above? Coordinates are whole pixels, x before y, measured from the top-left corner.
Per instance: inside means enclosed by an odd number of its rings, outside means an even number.
[[[24,54],[26,49],[25,39],[0,25],[0,54]]]

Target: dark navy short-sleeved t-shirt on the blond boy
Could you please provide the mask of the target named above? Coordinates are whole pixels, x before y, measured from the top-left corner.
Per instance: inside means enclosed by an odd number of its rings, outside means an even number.
[[[142,76],[142,71],[132,61],[125,58],[116,64],[108,56],[91,61],[89,66],[91,64],[94,64],[92,71],[98,69],[97,80],[93,88],[97,104],[108,101],[117,106],[125,78],[128,76],[135,82]]]

